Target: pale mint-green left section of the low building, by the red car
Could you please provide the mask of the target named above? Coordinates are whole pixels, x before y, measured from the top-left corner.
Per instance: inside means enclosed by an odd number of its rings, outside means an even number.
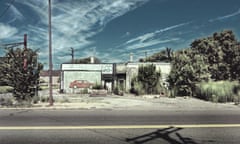
[[[113,64],[62,64],[61,91],[72,93],[74,89],[70,87],[70,84],[77,80],[103,85],[110,90],[113,81]]]

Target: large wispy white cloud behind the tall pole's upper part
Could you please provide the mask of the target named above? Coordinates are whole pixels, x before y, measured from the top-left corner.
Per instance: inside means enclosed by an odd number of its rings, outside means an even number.
[[[101,32],[107,23],[113,19],[134,10],[149,0],[89,0],[89,1],[53,1],[52,3],[52,33],[53,49],[55,55],[62,53],[66,47],[85,51],[92,47],[94,41],[91,37]],[[48,3],[42,0],[28,0],[23,4],[37,14],[37,24],[30,24],[30,32],[38,34],[39,25],[44,25],[45,30],[40,30],[40,39],[47,41]],[[34,40],[36,43],[37,40]],[[44,41],[44,40],[43,40]],[[83,52],[84,53],[84,52]]]

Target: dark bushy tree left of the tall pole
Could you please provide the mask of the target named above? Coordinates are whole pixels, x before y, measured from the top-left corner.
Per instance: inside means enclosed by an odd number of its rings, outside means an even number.
[[[8,48],[0,64],[1,80],[13,87],[18,102],[31,101],[42,69],[43,65],[37,62],[37,51]]]

